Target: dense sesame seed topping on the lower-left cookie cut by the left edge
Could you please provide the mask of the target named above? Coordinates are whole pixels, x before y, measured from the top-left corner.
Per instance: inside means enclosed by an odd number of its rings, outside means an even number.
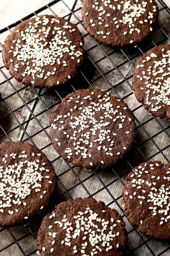
[[[20,148],[26,147],[24,143],[20,143]],[[14,148],[11,143],[9,149]],[[16,147],[17,153],[4,154],[0,157],[0,212],[5,212],[6,217],[19,212],[21,208],[26,209],[30,204],[30,196],[42,198],[42,186],[45,181],[45,165],[41,163],[35,156],[31,145],[26,151],[20,151]],[[9,150],[8,149],[8,150]],[[40,154],[41,156],[41,154]],[[38,161],[37,161],[38,160]],[[33,193],[33,194],[32,194]],[[20,206],[20,207],[19,207]],[[36,206],[42,209],[43,206]],[[18,208],[18,209],[17,209]],[[28,211],[29,212],[29,211]],[[28,219],[28,216],[23,217]]]

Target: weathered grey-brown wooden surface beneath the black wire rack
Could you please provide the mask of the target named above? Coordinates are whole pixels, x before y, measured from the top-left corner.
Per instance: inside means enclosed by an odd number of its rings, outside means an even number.
[[[1,0],[0,28],[22,19],[22,17],[25,17],[29,13],[49,2],[50,0]],[[64,0],[64,2],[67,3],[70,8],[72,8],[74,4],[74,0]],[[170,6],[169,0],[164,0],[164,2]],[[78,0],[74,9],[78,9],[81,4],[81,0]],[[64,16],[69,13],[67,7],[62,2],[51,6],[51,9],[59,16]],[[40,14],[46,13],[52,14],[49,9]],[[75,15],[81,19],[80,11],[75,12]],[[76,17],[72,15],[71,21],[77,23]],[[170,36],[169,22],[170,15],[166,10],[161,11],[159,16],[159,25]],[[145,156],[147,159],[162,160],[166,163],[167,160],[170,159],[170,137],[168,136],[170,133],[170,122],[167,119],[156,120],[150,116],[136,101],[130,87],[131,76],[133,75],[134,70],[133,64],[136,64],[136,61],[139,58],[139,49],[130,48],[119,50],[113,49],[112,47],[105,47],[103,45],[101,46],[102,48],[100,48],[96,46],[90,36],[86,35],[87,33],[82,25],[79,24],[78,27],[82,34],[85,35],[84,49],[87,50],[87,60],[85,65],[82,67],[82,73],[85,78],[88,79],[95,88],[104,90],[109,90],[111,88],[110,84],[112,86],[118,84],[115,87],[116,93],[118,93],[122,98],[125,97],[125,102],[129,105],[136,117],[136,123],[138,126],[136,146],[128,155],[128,162],[134,167],[145,161]],[[0,34],[1,43],[3,43],[8,33],[9,32],[4,32]],[[167,37],[159,28],[153,32],[152,40],[155,43],[159,43],[162,40],[164,44],[170,44],[170,41],[167,40]],[[142,44],[141,49],[146,51],[149,47],[153,47],[153,43],[150,42],[151,41],[149,39],[145,41]],[[93,46],[94,48],[91,49]],[[109,55],[109,58],[106,58],[106,54]],[[130,62],[127,61],[126,56],[130,58],[133,64],[130,64]],[[89,58],[96,62],[96,67],[99,70],[96,69]],[[114,68],[114,64],[118,66],[118,70]],[[59,96],[64,97],[68,92],[71,92],[73,90],[71,85],[73,85],[75,89],[87,86],[88,83],[85,78],[79,74],[79,76],[72,81],[72,84],[68,84],[67,88],[63,87],[63,89],[57,89],[57,92],[59,93],[59,95],[57,95],[54,90],[33,90],[31,87],[25,87],[18,83],[15,79],[11,78],[8,71],[3,67],[1,57],[0,67],[3,72],[0,73],[0,83],[2,83],[0,91],[4,99],[0,104],[0,125],[2,128],[0,131],[0,141],[8,140],[8,137],[5,134],[7,133],[11,140],[28,141],[37,145],[38,148],[43,149],[43,152],[47,155],[49,160],[52,161],[56,174],[60,180],[56,192],[56,195],[59,195],[57,196],[56,203],[69,198],[66,193],[63,194],[65,192],[63,186],[65,186],[72,198],[93,195],[96,200],[104,201],[105,204],[116,208],[122,214],[118,204],[121,205],[122,202],[121,195],[123,183],[125,182],[126,177],[124,174],[130,171],[130,165],[124,160],[119,165],[114,166],[113,169],[109,169],[107,171],[91,172],[74,167],[73,172],[69,169],[69,166],[64,160],[62,160],[62,158],[58,158],[56,160],[59,156],[51,145],[51,141],[48,137],[48,121],[51,116],[50,111],[52,111],[54,105],[59,102]],[[128,79],[127,81],[129,84],[123,81],[119,71]],[[105,79],[100,72],[105,73]],[[6,81],[4,75],[10,80]],[[115,94],[113,90],[110,90],[110,92]],[[40,99],[37,99],[37,95],[40,96]],[[47,107],[50,111],[47,110]],[[143,128],[140,126],[141,124]],[[162,128],[165,128],[165,131],[163,131]],[[152,140],[149,139],[147,134],[152,136]],[[31,141],[28,139],[27,135],[31,137]],[[159,151],[158,147],[161,148],[164,155]],[[121,177],[121,179],[118,177]],[[114,202],[114,198],[118,198],[118,204]],[[29,224],[26,224],[26,226],[12,227],[8,230],[4,229],[1,231],[0,250],[7,245],[11,245],[1,251],[0,256],[22,256],[23,254],[21,253],[18,245],[24,250],[26,255],[36,250],[36,240],[31,234],[31,231],[36,236],[37,229],[40,226],[40,221],[40,218],[36,218],[36,220],[31,221]],[[129,249],[133,250],[141,245],[139,249],[134,251],[134,255],[152,255],[146,245],[142,245],[143,241],[136,231],[133,230],[126,218],[124,218],[124,221],[126,222],[127,231],[130,231],[128,236]],[[14,243],[14,237],[18,241],[18,245]],[[167,244],[164,242],[148,239],[144,235],[142,235],[142,238],[147,241],[147,244],[156,255],[167,249]],[[32,253],[31,255],[37,255],[37,253]],[[127,253],[127,255],[129,254]],[[164,252],[162,255],[169,256],[170,252]]]

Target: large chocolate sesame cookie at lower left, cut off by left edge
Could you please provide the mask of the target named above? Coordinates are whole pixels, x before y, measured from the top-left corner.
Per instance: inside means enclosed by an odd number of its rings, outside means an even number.
[[[55,188],[54,169],[40,149],[22,142],[0,144],[0,227],[40,213]]]

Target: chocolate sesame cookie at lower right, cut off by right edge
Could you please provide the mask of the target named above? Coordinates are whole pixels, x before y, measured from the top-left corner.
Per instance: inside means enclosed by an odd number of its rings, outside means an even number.
[[[140,232],[170,239],[170,163],[150,161],[135,167],[127,176],[122,207]]]

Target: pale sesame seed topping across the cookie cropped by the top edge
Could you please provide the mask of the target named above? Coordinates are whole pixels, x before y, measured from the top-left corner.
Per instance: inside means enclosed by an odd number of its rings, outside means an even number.
[[[123,35],[131,35],[129,43],[133,44],[134,39],[139,37],[141,30],[143,29],[143,23],[148,23],[148,34],[152,31],[153,20],[156,22],[157,15],[155,12],[155,6],[150,2],[148,7],[148,1],[134,1],[131,0],[93,0],[86,6],[85,1],[83,9],[85,17],[83,18],[85,24],[90,26],[96,26],[96,35],[101,35],[103,39],[113,41],[113,33],[111,31],[121,31]],[[92,12],[89,10],[92,9]],[[93,15],[92,15],[92,14]],[[110,20],[108,20],[110,17]],[[144,22],[143,22],[144,20]]]

